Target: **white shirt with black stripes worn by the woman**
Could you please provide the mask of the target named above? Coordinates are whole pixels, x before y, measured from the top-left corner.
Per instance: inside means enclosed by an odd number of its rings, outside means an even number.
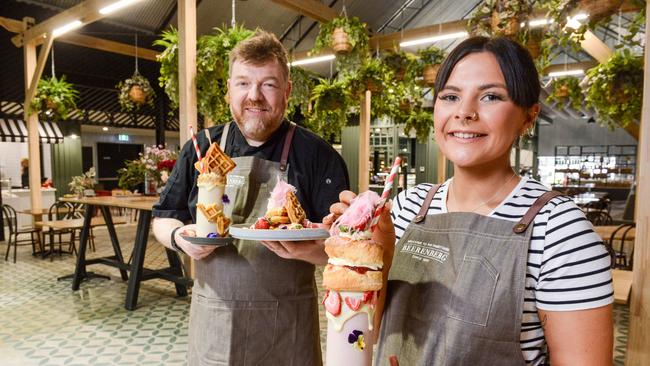
[[[447,212],[447,187],[440,186],[428,214]],[[420,184],[401,192],[391,215],[399,240],[417,215],[432,184]],[[489,216],[519,221],[535,200],[548,191],[541,183],[522,178],[517,187]],[[582,211],[567,197],[555,197],[533,222],[528,251],[521,351],[529,365],[544,364],[547,346],[538,309],[572,311],[597,308],[614,300],[610,257]]]

